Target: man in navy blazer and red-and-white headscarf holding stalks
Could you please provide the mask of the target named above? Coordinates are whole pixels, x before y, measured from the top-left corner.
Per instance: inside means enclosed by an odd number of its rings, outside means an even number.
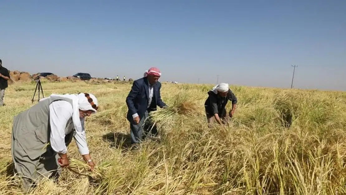
[[[126,98],[128,107],[126,118],[130,122],[131,142],[133,144],[142,141],[144,134],[150,131],[151,124],[146,122],[148,114],[156,110],[157,106],[161,108],[167,106],[161,99],[161,83],[158,82],[160,77],[160,70],[155,67],[150,68],[144,73],[143,78],[133,82]]]

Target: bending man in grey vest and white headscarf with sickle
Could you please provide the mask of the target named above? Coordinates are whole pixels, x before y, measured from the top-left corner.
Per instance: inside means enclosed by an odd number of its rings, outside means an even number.
[[[98,101],[92,94],[52,94],[13,118],[11,154],[24,190],[43,178],[58,178],[61,168],[69,166],[67,146],[72,138],[93,170],[84,117],[97,109]]]

